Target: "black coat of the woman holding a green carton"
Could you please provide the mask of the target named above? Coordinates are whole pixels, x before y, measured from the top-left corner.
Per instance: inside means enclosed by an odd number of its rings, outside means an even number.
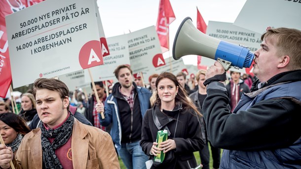
[[[152,143],[156,141],[157,132],[159,130],[168,129],[168,138],[174,139],[176,143],[176,149],[171,150],[171,152],[174,153],[175,159],[168,164],[163,164],[163,162],[162,166],[157,168],[195,168],[197,164],[193,152],[200,151],[204,147],[198,117],[194,114],[195,112],[193,110],[189,112],[189,110],[183,109],[181,103],[178,104],[173,111],[163,110],[163,112],[164,114],[157,105],[147,110],[142,124],[142,140],[140,142],[142,150],[153,160],[154,156],[150,155],[150,150]],[[179,119],[178,124],[177,119]],[[154,168],[154,166],[152,166],[152,168]]]

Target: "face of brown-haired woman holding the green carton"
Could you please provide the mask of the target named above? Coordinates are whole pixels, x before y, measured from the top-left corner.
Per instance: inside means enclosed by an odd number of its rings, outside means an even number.
[[[164,78],[158,82],[158,96],[161,99],[161,102],[169,103],[174,102],[176,94],[178,93],[179,87],[175,83],[168,79]]]

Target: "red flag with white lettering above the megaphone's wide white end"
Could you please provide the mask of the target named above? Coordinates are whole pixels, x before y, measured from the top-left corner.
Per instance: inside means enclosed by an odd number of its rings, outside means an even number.
[[[169,50],[169,25],[176,19],[169,0],[160,0],[156,31],[162,53]]]

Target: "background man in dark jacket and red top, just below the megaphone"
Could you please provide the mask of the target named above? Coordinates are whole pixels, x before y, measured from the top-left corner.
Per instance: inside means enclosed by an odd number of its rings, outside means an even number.
[[[240,72],[230,71],[231,80],[226,85],[228,92],[229,105],[231,107],[231,112],[233,112],[236,104],[240,100],[240,97],[243,93],[249,93],[250,88],[240,79]]]

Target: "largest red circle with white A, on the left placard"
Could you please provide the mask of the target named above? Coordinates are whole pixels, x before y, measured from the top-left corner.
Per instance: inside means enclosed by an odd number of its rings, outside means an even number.
[[[103,55],[100,41],[91,40],[85,43],[79,51],[79,64],[81,68],[91,68],[103,65]]]

